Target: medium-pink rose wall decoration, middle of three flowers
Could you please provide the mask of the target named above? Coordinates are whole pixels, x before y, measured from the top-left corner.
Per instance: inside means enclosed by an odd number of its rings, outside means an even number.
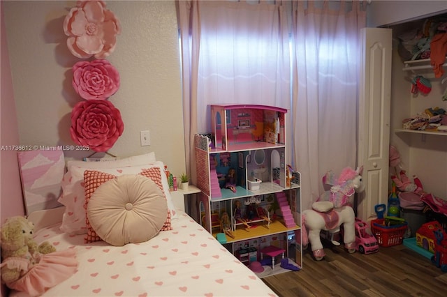
[[[119,89],[119,73],[107,60],[80,61],[72,69],[73,88],[85,100],[107,99]]]

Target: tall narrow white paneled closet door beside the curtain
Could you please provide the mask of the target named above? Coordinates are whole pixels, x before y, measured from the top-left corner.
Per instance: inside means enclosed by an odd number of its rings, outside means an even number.
[[[388,201],[392,30],[362,29],[362,70],[358,114],[358,165],[366,190],[358,218],[375,218],[376,204]]]

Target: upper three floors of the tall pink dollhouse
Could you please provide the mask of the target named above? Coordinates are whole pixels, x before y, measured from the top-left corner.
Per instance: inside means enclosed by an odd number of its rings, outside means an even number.
[[[263,250],[272,245],[270,241],[297,231],[295,261],[302,266],[297,224],[300,185],[286,183],[287,110],[265,105],[210,105],[210,112],[212,131],[194,137],[197,187],[201,190],[198,211],[203,225],[215,236],[216,231],[209,227],[212,213],[228,213],[234,238],[226,236],[224,246],[233,254],[247,241],[256,242],[254,247]],[[232,178],[230,186],[228,176]],[[297,177],[295,181],[300,181]],[[281,244],[280,254],[288,257],[288,244]]]

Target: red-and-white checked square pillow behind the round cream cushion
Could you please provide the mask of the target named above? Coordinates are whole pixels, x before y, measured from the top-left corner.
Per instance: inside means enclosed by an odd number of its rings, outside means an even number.
[[[161,193],[163,197],[166,200],[166,196],[164,195],[163,186],[161,185],[161,172],[159,167],[152,167],[149,169],[145,169],[143,172],[145,174],[140,174],[141,176],[145,176],[146,178],[154,178],[154,183],[159,187],[161,190]],[[85,201],[84,201],[84,209],[85,209],[85,222],[87,224],[87,235],[85,236],[85,243],[91,243],[94,241],[101,241],[101,237],[96,234],[96,231],[93,227],[91,227],[91,224],[89,222],[88,218],[88,205],[89,200],[91,199],[91,196],[94,195],[94,192],[100,185],[103,185],[103,183],[106,183],[107,181],[112,180],[113,178],[117,178],[117,176],[113,174],[108,174],[105,172],[99,172],[97,170],[85,170],[84,172],[84,187],[85,187]],[[171,222],[170,222],[171,216],[170,216],[170,210],[168,208],[166,220],[161,227],[160,231],[167,231],[172,230]]]

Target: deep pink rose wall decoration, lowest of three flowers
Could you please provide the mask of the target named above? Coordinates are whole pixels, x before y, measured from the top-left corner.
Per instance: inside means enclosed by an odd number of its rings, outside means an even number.
[[[71,139],[94,151],[108,151],[123,131],[121,113],[108,100],[81,101],[71,111]]]

